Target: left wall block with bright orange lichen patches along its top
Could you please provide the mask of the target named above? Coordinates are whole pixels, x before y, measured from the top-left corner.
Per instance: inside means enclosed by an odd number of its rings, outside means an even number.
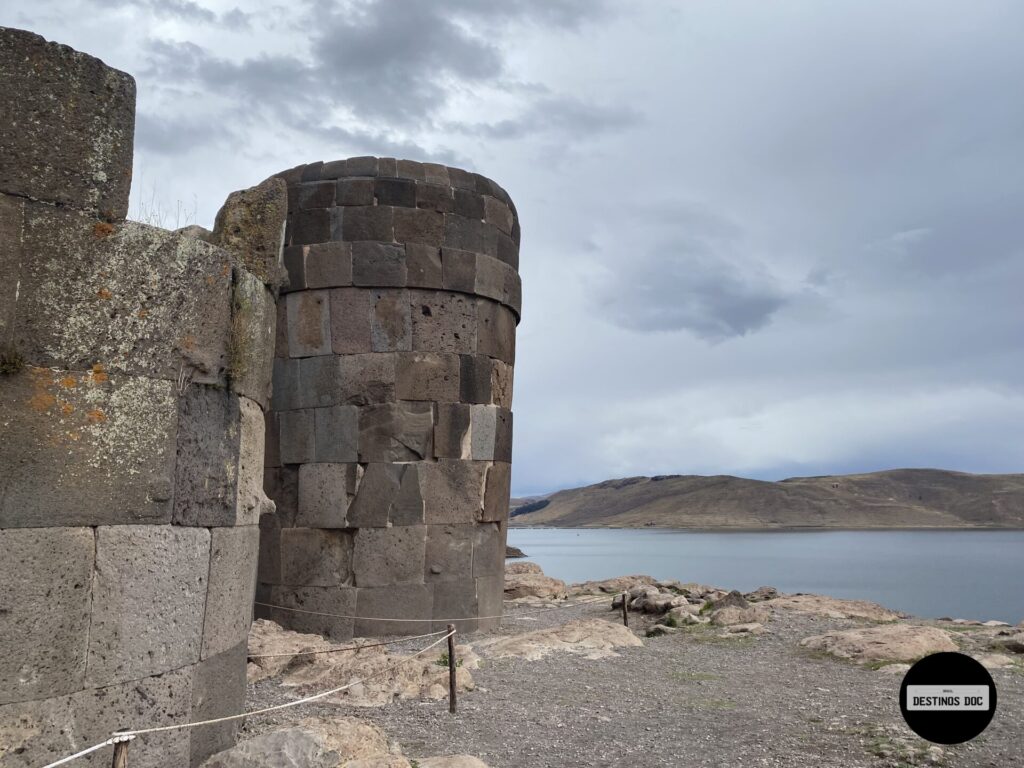
[[[0,528],[170,521],[174,384],[98,365],[2,379]]]

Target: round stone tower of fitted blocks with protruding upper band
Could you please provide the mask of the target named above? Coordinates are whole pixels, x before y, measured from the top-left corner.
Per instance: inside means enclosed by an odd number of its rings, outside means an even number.
[[[476,617],[502,612],[515,207],[479,174],[393,158],[282,177],[258,599],[312,612],[257,615],[338,639],[497,626]]]

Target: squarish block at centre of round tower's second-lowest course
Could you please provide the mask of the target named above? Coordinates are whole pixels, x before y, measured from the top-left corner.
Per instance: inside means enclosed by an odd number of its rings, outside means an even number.
[[[364,478],[366,481],[366,478]],[[422,584],[425,525],[365,527],[355,531],[355,586]]]

